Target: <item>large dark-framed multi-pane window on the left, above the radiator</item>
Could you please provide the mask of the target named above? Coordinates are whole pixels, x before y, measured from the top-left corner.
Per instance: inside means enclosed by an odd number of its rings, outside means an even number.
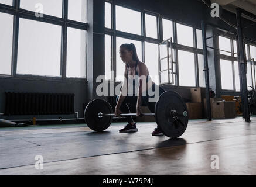
[[[6,5],[13,2],[0,0]],[[87,0],[17,2],[15,9],[0,6],[0,75],[85,78]],[[2,13],[6,11],[10,14]],[[37,19],[30,11],[43,16]]]

